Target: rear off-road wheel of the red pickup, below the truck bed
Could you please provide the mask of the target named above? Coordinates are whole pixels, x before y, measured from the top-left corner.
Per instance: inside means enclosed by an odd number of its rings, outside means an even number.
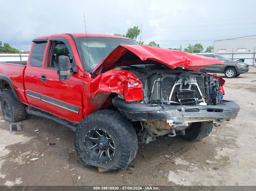
[[[12,90],[5,90],[1,94],[1,109],[3,118],[6,121],[18,122],[26,119],[26,105],[20,103],[14,96]],[[6,104],[8,104],[8,111],[6,112]],[[4,106],[5,105],[5,106]]]

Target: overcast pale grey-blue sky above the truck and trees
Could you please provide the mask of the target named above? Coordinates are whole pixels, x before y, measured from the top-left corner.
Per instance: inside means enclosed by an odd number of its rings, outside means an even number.
[[[84,33],[125,34],[141,26],[142,41],[164,48],[256,34],[256,1],[82,1],[0,0],[0,41],[28,50],[38,36]],[[138,39],[139,40],[139,37]],[[198,40],[198,41],[185,41]]]

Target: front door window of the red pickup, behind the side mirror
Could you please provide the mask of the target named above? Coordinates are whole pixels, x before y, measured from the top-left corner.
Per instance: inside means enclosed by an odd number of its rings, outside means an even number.
[[[49,54],[50,59],[48,63],[49,68],[59,68],[59,56],[68,56],[71,59],[70,53],[68,51],[67,46],[65,43],[61,41],[54,41],[52,46],[52,51]],[[70,60],[70,63],[72,60]]]

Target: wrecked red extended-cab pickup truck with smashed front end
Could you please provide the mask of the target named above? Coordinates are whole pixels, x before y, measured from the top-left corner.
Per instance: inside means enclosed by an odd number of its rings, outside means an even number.
[[[124,169],[138,141],[198,140],[236,118],[238,104],[223,100],[225,81],[200,72],[218,63],[112,35],[38,37],[27,62],[0,62],[2,113],[11,122],[29,113],[62,124],[75,131],[85,164]]]

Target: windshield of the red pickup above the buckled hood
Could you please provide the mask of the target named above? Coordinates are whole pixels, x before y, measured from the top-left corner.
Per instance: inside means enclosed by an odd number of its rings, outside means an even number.
[[[138,45],[136,41],[108,37],[77,37],[78,50],[85,70],[93,70],[118,45]],[[88,45],[88,46],[87,46]],[[88,53],[89,50],[89,53]],[[90,67],[91,68],[90,68]]]

